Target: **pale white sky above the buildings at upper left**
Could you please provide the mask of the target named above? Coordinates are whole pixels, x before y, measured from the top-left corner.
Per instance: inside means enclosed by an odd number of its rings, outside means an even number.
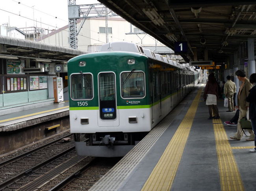
[[[76,0],[77,5],[97,0]],[[56,18],[57,17],[57,18]],[[58,29],[68,25],[68,0],[4,0],[0,6],[0,25]]]

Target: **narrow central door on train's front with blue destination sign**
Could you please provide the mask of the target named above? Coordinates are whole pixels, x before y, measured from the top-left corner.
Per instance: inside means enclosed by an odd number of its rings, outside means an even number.
[[[114,72],[98,73],[98,126],[119,126],[116,76]]]

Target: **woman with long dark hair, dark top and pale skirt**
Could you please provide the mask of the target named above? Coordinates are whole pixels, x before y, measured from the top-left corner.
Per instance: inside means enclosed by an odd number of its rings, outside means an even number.
[[[217,107],[218,84],[214,77],[214,73],[208,76],[208,82],[204,89],[204,100],[208,105],[209,115],[208,119],[219,119],[219,110]]]

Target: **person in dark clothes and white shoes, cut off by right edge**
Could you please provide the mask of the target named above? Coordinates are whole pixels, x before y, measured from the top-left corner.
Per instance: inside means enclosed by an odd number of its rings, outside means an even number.
[[[254,135],[256,133],[256,73],[250,75],[250,83],[252,84],[252,89],[249,90],[249,95],[246,101],[249,102],[249,119],[252,123],[252,130]],[[256,152],[256,139],[254,137],[254,149],[250,149],[250,152]]]

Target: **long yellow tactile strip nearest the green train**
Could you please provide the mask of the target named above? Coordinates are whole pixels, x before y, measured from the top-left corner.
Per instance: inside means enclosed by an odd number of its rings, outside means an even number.
[[[199,89],[184,119],[141,191],[169,191],[171,189],[197,111],[201,92],[202,88]]]

